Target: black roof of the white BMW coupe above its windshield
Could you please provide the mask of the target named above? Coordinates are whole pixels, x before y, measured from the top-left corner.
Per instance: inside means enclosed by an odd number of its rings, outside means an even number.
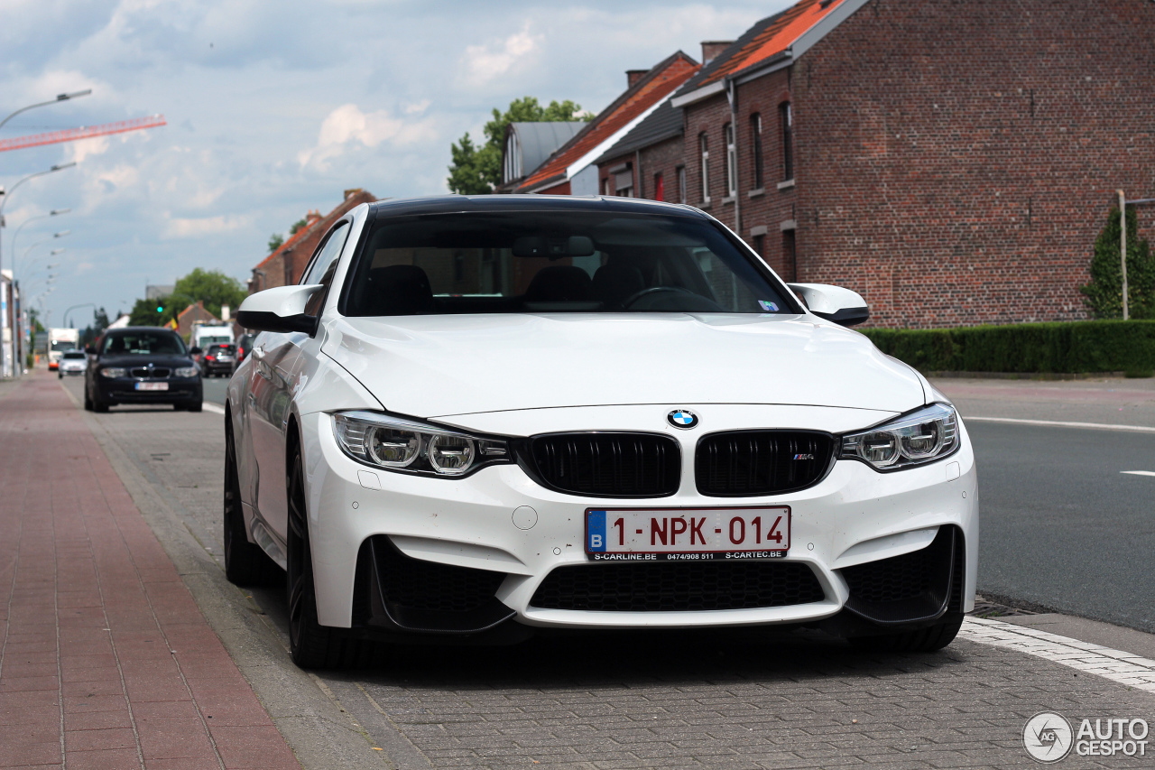
[[[608,195],[426,195],[390,198],[368,203],[368,207],[374,214],[389,216],[475,212],[602,212],[709,219],[705,213],[685,203]]]

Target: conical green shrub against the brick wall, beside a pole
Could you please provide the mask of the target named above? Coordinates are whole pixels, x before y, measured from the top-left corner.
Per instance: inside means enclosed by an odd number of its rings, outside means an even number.
[[[1119,264],[1119,209],[1111,208],[1095,239],[1090,283],[1079,290],[1095,318],[1123,318],[1123,267]],[[1127,309],[1132,318],[1155,318],[1155,258],[1139,238],[1139,217],[1127,209]]]

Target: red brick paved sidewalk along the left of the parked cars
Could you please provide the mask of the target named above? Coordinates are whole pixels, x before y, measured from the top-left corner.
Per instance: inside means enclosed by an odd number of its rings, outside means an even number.
[[[0,768],[299,768],[76,408],[0,399]]]

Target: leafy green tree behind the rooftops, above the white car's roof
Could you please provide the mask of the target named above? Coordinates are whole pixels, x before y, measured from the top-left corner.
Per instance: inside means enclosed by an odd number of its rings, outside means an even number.
[[[550,102],[542,106],[534,96],[523,96],[509,103],[504,113],[493,110],[493,119],[485,124],[485,143],[474,145],[469,132],[460,141],[449,146],[453,163],[449,164],[449,190],[462,195],[483,195],[493,192],[501,184],[501,145],[505,142],[506,126],[511,123],[549,123],[554,120],[593,120],[583,113],[580,104],[569,99]]]

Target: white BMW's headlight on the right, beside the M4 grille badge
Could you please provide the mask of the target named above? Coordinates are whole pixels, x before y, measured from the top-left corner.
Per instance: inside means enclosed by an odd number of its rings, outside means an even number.
[[[954,407],[932,403],[886,424],[842,437],[842,459],[862,460],[878,471],[933,462],[959,449]]]

